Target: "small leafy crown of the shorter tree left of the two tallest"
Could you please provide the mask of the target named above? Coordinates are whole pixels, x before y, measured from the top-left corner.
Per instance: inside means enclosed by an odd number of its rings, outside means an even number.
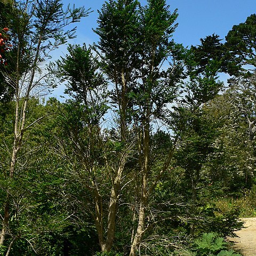
[[[99,124],[108,109],[108,92],[105,78],[99,73],[98,60],[85,44],[69,45],[68,51],[66,58],[57,61],[57,75],[62,82],[69,81],[65,93],[83,104],[86,122]]]

